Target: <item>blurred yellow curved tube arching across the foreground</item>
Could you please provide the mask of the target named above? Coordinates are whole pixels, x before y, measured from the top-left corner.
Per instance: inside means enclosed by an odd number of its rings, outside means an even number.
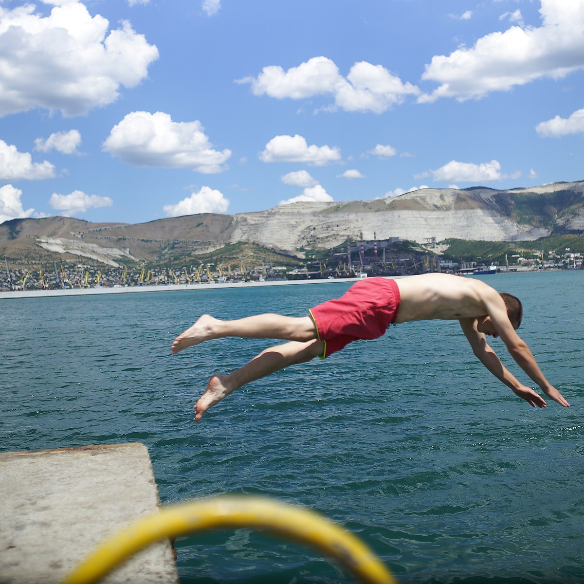
[[[166,507],[110,537],[62,584],[91,584],[135,552],[192,531],[255,527],[317,548],[335,558],[360,582],[397,584],[359,539],[306,509],[260,497],[221,496]]]

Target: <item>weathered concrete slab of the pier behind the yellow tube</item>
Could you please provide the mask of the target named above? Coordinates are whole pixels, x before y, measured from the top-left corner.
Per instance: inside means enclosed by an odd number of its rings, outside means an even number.
[[[0,583],[60,582],[95,547],[160,506],[142,444],[0,454]],[[104,584],[178,583],[168,541]]]

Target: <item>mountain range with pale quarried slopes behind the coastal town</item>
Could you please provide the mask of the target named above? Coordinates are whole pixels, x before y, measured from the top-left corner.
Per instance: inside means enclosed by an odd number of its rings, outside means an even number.
[[[229,260],[246,253],[304,258],[347,238],[401,238],[424,244],[457,238],[531,241],[584,232],[584,181],[496,190],[420,189],[391,199],[299,202],[234,215],[202,213],[148,223],[90,223],[69,217],[13,219],[0,224],[0,256],[8,261],[82,262],[112,266]]]

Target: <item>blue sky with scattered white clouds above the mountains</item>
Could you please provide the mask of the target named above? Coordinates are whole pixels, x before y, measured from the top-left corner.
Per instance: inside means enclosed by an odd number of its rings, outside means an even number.
[[[584,0],[0,0],[0,223],[584,179]]]

